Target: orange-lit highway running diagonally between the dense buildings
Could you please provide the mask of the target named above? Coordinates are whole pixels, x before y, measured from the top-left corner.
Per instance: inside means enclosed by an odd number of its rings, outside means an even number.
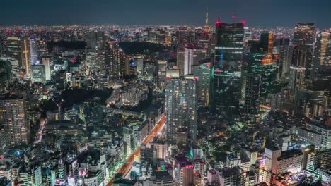
[[[145,138],[145,140],[143,140],[143,142],[141,142],[141,145],[146,145],[148,142],[151,142],[151,140],[153,140],[154,137],[156,137],[156,135],[158,135],[158,132],[160,132],[163,127],[164,127],[164,123],[165,123],[165,116],[163,116],[161,118],[161,120],[158,122],[158,125],[155,126],[155,128],[152,130],[152,132],[149,134],[149,136],[147,136]],[[127,173],[129,173],[130,169],[132,168],[132,162],[134,161],[134,156],[140,155],[140,149],[141,149],[141,145],[134,151],[134,153],[131,154],[131,156],[129,156],[126,160],[127,163],[125,163],[118,171],[118,173],[122,173],[123,177],[125,177],[127,175]],[[112,182],[114,181],[114,176],[112,177],[112,179],[110,180],[110,182],[108,182],[107,186],[112,185]]]

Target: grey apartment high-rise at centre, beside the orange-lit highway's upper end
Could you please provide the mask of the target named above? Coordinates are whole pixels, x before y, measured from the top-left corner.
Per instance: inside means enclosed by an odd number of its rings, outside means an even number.
[[[197,131],[197,79],[169,79],[165,86],[167,142],[192,145]]]

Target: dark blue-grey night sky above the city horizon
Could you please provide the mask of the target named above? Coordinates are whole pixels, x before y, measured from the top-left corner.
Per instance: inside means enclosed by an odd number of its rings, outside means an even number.
[[[207,6],[211,25],[331,27],[331,0],[1,0],[0,25],[203,25]]]

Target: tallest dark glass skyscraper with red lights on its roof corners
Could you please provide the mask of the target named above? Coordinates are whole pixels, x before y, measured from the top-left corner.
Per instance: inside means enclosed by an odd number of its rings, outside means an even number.
[[[215,59],[210,74],[211,113],[239,111],[243,26],[216,22]]]

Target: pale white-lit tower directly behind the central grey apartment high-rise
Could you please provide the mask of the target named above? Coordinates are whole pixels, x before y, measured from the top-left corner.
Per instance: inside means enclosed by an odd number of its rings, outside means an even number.
[[[206,58],[206,50],[185,48],[184,75],[193,73],[193,66],[199,65],[199,61]]]

